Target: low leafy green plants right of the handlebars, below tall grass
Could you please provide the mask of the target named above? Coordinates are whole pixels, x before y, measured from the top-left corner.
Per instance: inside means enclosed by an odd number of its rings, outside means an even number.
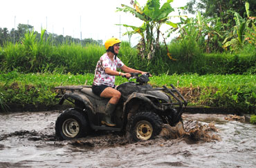
[[[150,82],[158,86],[163,83],[165,85],[177,83],[177,87],[190,87],[185,93],[187,95],[195,88],[200,93],[196,105],[226,107],[237,112],[256,113],[255,75],[173,74],[153,78]],[[195,97],[193,94],[191,96]]]

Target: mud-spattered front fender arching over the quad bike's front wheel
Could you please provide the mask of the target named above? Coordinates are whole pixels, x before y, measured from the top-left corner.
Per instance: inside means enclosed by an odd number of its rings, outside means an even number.
[[[151,98],[158,98],[158,97],[152,96],[150,94],[143,94],[143,93],[137,93],[137,92],[134,92],[134,93],[130,94],[129,97],[127,98],[127,101],[125,101],[125,103],[124,103],[124,107],[123,107],[123,110],[125,112],[124,114],[126,114],[127,107],[129,107],[129,105],[132,105],[131,102],[134,99],[140,99],[143,102],[145,102],[146,104],[148,104],[148,106],[152,106],[157,110],[160,110],[160,111],[165,110],[163,107],[159,107],[159,106],[154,105],[154,103],[152,103],[152,101],[149,99],[150,97]]]

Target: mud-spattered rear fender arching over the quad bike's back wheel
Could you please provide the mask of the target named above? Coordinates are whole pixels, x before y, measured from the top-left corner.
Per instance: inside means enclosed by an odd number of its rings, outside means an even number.
[[[88,107],[91,112],[94,112],[93,104],[91,103],[89,98],[87,98],[84,94],[80,94],[80,93],[77,93],[77,92],[66,91],[66,93],[60,99],[59,104],[62,105],[64,103],[65,99],[67,99],[67,98],[73,98],[74,100],[77,100],[77,101],[80,101],[80,102],[84,103],[84,105],[86,107]]]

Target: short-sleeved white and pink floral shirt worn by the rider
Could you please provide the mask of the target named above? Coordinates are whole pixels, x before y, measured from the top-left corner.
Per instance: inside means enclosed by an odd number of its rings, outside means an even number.
[[[109,56],[107,56],[107,53],[103,54],[95,68],[93,85],[108,85],[110,87],[114,87],[115,76],[106,74],[105,69],[109,67],[111,70],[116,71],[116,68],[121,68],[123,65],[125,64],[122,63],[118,57],[116,57],[116,60],[114,59],[111,61]]]

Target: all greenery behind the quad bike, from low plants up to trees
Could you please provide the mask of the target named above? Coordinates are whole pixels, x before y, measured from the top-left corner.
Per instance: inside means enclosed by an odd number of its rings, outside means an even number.
[[[195,2],[188,3],[188,12]],[[196,18],[180,15],[179,23],[171,21],[172,0],[163,4],[147,0],[145,6],[131,3],[118,11],[142,21],[140,27],[123,25],[131,29],[125,34],[140,34],[141,39],[136,48],[122,41],[118,57],[125,65],[151,72],[153,86],[175,84],[190,105],[256,114],[255,1],[199,1]],[[161,32],[165,23],[170,30]],[[165,43],[173,32],[178,36]],[[46,30],[38,33],[31,25],[20,24],[10,33],[0,28],[0,108],[55,105],[54,87],[85,81],[91,85],[96,62],[104,52],[102,41],[88,43]],[[125,81],[118,77],[116,84]]]

